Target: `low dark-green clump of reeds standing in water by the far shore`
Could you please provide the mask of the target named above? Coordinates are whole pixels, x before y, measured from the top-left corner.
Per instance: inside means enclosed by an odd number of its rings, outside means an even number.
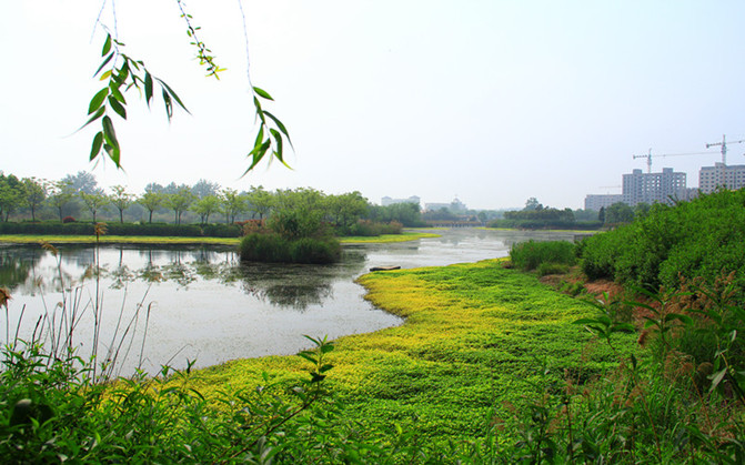
[[[339,261],[341,245],[334,239],[291,241],[275,233],[254,233],[241,240],[240,255],[251,262],[323,264]]]

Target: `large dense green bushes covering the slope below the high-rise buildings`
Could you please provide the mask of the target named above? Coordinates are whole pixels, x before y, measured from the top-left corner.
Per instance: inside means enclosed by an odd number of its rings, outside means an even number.
[[[655,204],[648,215],[580,245],[590,279],[657,290],[677,287],[681,276],[712,285],[723,272],[738,272],[745,286],[745,190],[701,195],[674,208]]]

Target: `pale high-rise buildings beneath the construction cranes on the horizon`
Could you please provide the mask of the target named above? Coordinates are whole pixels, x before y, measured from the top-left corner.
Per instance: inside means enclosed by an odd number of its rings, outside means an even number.
[[[698,192],[707,194],[721,188],[742,189],[745,188],[745,165],[715,163],[714,166],[703,166],[698,172],[698,189],[687,188],[686,182],[686,174],[675,172],[672,168],[663,168],[660,173],[634,170],[623,175],[621,194],[588,194],[585,198],[585,210],[600,211],[617,202],[630,206],[672,203],[694,199]]]

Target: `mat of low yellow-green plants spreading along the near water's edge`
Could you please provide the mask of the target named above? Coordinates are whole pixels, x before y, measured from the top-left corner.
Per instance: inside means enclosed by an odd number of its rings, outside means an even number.
[[[329,355],[329,387],[341,415],[369,439],[392,444],[395,425],[407,441],[441,448],[483,437],[486,423],[510,422],[512,406],[552,383],[586,380],[613,364],[604,346],[587,361],[588,334],[572,324],[592,313],[590,305],[499,261],[371,273],[360,283],[375,305],[406,317],[399,327],[342,337]],[[225,386],[264,384],[262,372],[274,381],[301,376],[303,361],[234,361],[193,381],[215,395]]]

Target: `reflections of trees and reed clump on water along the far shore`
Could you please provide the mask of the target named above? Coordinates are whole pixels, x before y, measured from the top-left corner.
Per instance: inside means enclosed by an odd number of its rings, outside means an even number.
[[[230,247],[101,246],[95,266],[92,246],[61,245],[53,257],[38,245],[0,249],[0,282],[11,293],[34,295],[90,282],[125,289],[129,283],[171,283],[189,289],[201,282],[238,285],[244,293],[279,309],[304,311],[333,297],[332,282],[351,280],[364,266],[364,253],[346,254],[344,265],[241,263]],[[58,262],[59,259],[59,262]]]

